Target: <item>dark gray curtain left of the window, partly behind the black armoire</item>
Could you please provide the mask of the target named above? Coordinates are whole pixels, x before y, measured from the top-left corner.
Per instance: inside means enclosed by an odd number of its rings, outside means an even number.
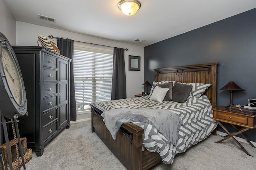
[[[60,54],[72,59],[70,63],[70,120],[76,120],[76,94],[75,94],[75,83],[74,83],[74,40],[56,38],[57,46],[60,49]]]

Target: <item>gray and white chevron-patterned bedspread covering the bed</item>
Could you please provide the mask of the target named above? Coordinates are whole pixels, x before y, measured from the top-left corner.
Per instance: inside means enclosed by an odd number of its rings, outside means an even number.
[[[144,122],[133,122],[144,129],[142,137],[144,147],[150,152],[158,152],[165,164],[172,164],[176,154],[185,152],[191,146],[206,139],[217,126],[216,121],[212,119],[212,106],[205,95],[200,98],[189,96],[185,103],[164,101],[160,104],[150,100],[149,96],[143,96],[96,104],[106,110],[154,108],[169,109],[176,113],[182,119],[182,125],[175,146],[152,125]]]

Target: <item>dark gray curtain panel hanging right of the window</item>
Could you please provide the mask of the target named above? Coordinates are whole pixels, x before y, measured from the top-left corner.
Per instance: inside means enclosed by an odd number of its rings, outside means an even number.
[[[111,100],[126,98],[124,49],[114,47]]]

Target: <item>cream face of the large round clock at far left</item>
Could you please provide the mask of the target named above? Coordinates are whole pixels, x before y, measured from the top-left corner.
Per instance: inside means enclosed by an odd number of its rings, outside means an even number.
[[[4,69],[4,74],[5,74],[10,92],[12,93],[12,96],[16,101],[16,103],[21,105],[22,99],[23,99],[23,93],[22,93],[23,89],[21,89],[22,82],[20,79],[20,74],[18,72],[16,63],[9,49],[6,47],[6,45],[2,46],[1,60],[2,60],[2,66]]]

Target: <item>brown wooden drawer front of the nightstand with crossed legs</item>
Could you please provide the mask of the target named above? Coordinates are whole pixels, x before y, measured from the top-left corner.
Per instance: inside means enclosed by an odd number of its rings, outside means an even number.
[[[217,111],[216,118],[226,120],[230,123],[234,122],[238,124],[248,125],[248,117],[243,115],[233,115]]]

